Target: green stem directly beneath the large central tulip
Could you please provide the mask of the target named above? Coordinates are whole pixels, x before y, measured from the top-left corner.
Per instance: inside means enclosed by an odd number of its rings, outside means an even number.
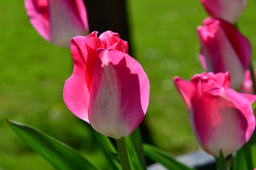
[[[118,146],[118,154],[120,157],[122,170],[131,170],[127,149],[126,149],[125,137],[116,139],[116,145]]]

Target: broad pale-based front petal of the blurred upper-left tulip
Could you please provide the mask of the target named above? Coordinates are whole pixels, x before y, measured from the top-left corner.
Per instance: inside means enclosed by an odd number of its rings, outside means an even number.
[[[69,48],[71,37],[88,34],[80,14],[76,11],[76,2],[73,0],[55,0],[48,1],[48,3],[52,44]]]

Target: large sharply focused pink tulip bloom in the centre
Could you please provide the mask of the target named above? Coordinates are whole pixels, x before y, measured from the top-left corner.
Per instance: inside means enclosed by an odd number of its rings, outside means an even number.
[[[106,31],[71,39],[73,74],[63,99],[70,111],[105,136],[129,136],[147,111],[150,84],[126,41]]]

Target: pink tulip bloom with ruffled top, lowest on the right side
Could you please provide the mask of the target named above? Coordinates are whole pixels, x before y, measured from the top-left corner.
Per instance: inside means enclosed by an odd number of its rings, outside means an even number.
[[[255,117],[251,104],[255,95],[230,88],[228,73],[202,73],[189,82],[175,77],[174,83],[187,107],[191,129],[209,154],[226,157],[251,138]]]

